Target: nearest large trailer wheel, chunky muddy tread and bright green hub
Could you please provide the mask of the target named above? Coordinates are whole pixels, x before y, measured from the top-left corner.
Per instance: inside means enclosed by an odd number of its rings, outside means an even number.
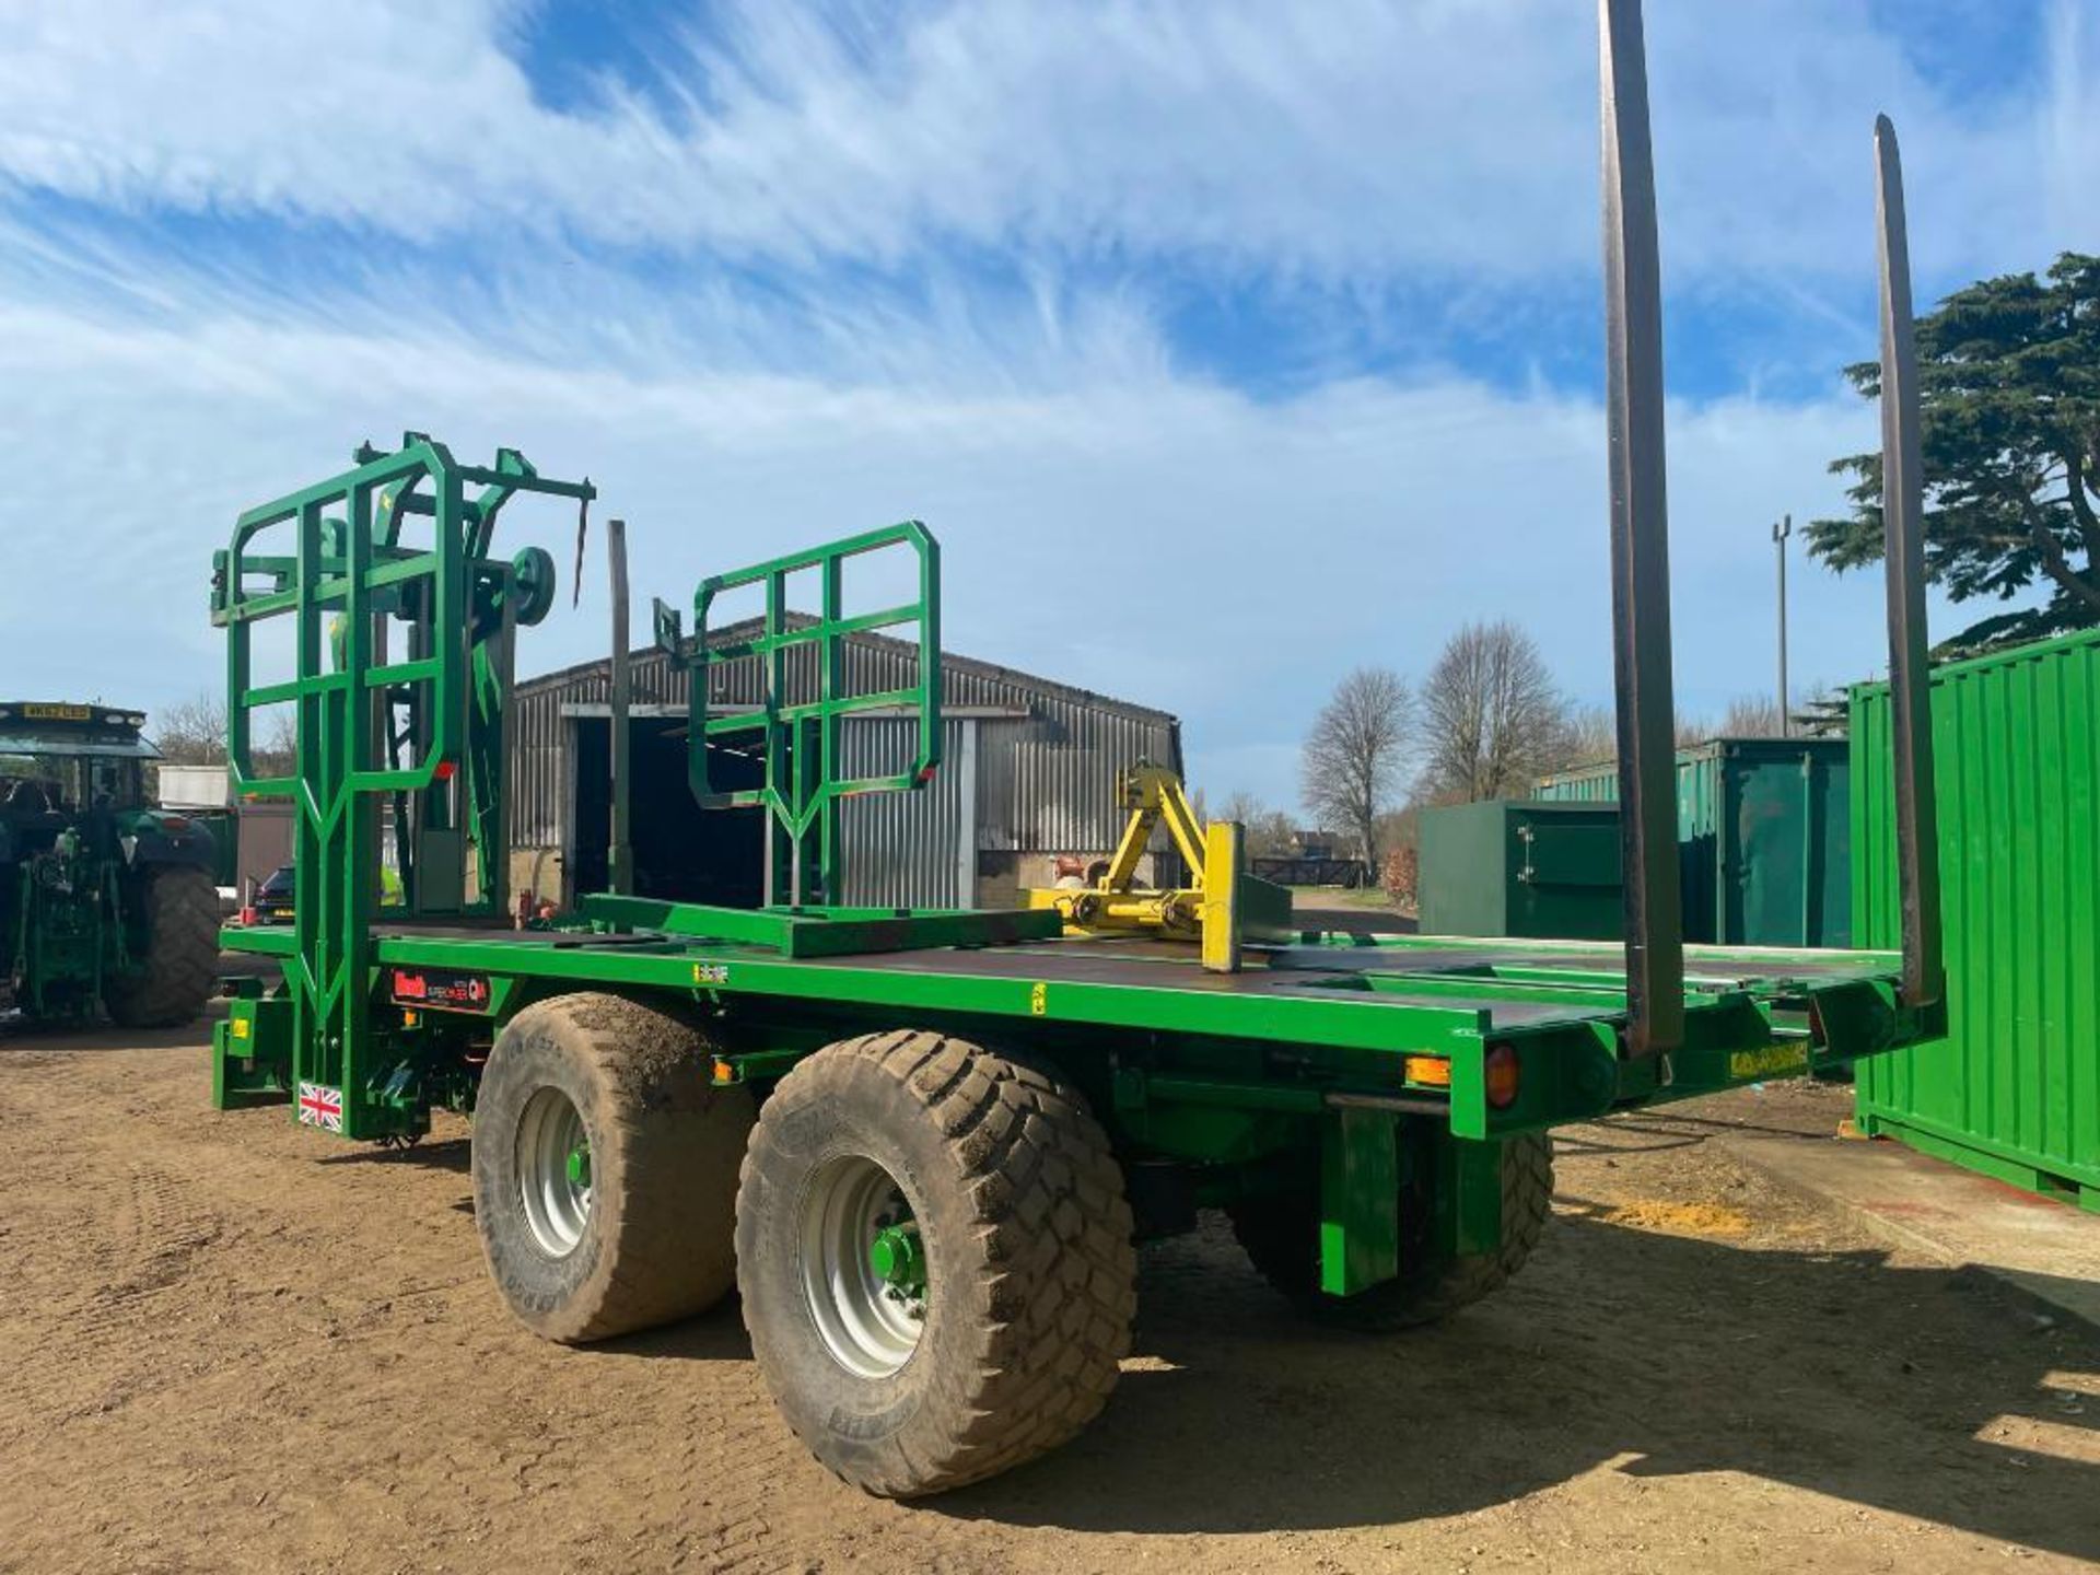
[[[743,1323],[844,1480],[941,1493],[1056,1449],[1130,1350],[1124,1174],[1050,1071],[939,1033],[825,1046],[766,1100],[737,1193]]]

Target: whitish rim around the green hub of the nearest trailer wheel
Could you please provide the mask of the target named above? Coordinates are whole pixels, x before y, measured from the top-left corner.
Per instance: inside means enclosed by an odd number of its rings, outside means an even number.
[[[827,1159],[802,1193],[802,1296],[832,1361],[859,1378],[888,1378],[911,1361],[926,1327],[926,1292],[876,1273],[876,1237],[905,1224],[911,1205],[865,1155]]]

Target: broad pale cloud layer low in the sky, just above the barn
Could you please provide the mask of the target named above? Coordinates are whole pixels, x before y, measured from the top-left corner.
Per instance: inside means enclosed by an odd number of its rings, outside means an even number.
[[[924,517],[947,546],[956,649],[1178,710],[1220,788],[1289,796],[1277,762],[1308,697],[1359,662],[1420,672],[1466,615],[1525,622],[1571,689],[1609,695],[1602,418],[1586,399],[1466,380],[1258,405],[1174,376],[1008,397],[638,378],[430,336],[111,330],[23,311],[0,313],[0,378],[34,378],[4,439],[40,456],[38,489],[0,500],[0,533],[19,563],[69,565],[63,603],[36,575],[0,582],[19,687],[166,701],[214,682],[204,584],[233,514],[340,468],[357,437],[418,426],[462,454],[519,443],[554,475],[590,472],[601,514],[632,521],[638,588],[674,601],[701,573]],[[1762,680],[1764,514],[1835,502],[1821,464],[1869,424],[1835,391],[1674,412],[1690,708],[1718,712]],[[506,529],[559,548],[571,525],[544,512]],[[1102,605],[1138,611],[1102,622]],[[1796,609],[1798,670],[1880,662],[1871,580],[1804,575]],[[523,659],[598,649],[592,580]],[[1228,779],[1239,771],[1264,775]]]

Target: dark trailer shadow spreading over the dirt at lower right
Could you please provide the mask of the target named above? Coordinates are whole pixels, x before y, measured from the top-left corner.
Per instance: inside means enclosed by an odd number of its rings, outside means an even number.
[[[1598,1466],[1745,1472],[2100,1558],[2100,1466],[1978,1434],[2090,1430],[2100,1340],[1974,1270],[1756,1252],[1562,1216],[1533,1268],[1453,1323],[1306,1334],[1216,1233],[1147,1254],[1138,1357],[1037,1466],[932,1499],[960,1518],[1237,1533],[1462,1514]],[[1241,1260],[1243,1262],[1243,1260]]]

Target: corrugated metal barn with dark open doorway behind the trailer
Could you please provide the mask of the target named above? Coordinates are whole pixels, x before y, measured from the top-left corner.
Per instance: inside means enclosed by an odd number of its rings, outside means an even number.
[[[748,626],[716,630],[735,640]],[[790,699],[815,674],[815,649],[796,647]],[[762,901],[760,811],[701,811],[687,788],[682,662],[636,651],[630,664],[634,886],[640,895],[731,905]],[[710,668],[710,708],[760,699],[758,657]],[[846,640],[850,693],[918,682],[918,647],[880,634]],[[918,792],[842,804],[844,890],[855,905],[1006,907],[1018,886],[1054,884],[1060,857],[1105,855],[1121,832],[1115,773],[1136,760],[1182,769],[1180,722],[1159,710],[1012,672],[941,657],[943,762]],[[523,680],[510,704],[512,890],[601,890],[607,878],[611,659]],[[846,769],[903,769],[916,720],[903,714],[842,722]],[[724,762],[731,771],[735,762]],[[718,779],[724,779],[718,775]],[[733,777],[727,777],[733,781]],[[756,783],[754,783],[756,785]],[[1168,872],[1159,872],[1168,874]]]

